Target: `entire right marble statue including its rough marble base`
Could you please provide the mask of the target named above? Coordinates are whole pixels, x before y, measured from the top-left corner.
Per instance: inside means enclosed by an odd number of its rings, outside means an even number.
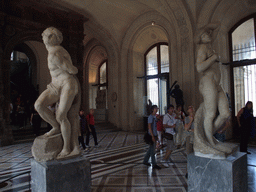
[[[230,116],[228,99],[220,85],[220,58],[212,48],[213,34],[216,34],[218,27],[218,23],[210,23],[200,29],[195,38],[195,65],[201,75],[199,91],[204,101],[195,115],[194,151],[196,154],[225,158],[234,152],[235,146],[219,143],[213,136]]]

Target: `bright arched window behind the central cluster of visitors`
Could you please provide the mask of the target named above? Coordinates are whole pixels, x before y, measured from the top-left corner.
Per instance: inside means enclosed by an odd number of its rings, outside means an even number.
[[[146,96],[153,105],[158,105],[159,113],[164,114],[169,87],[169,47],[167,43],[158,43],[145,53]]]

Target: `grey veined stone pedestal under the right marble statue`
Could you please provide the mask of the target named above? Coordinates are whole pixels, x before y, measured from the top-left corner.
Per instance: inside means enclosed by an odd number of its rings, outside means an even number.
[[[247,154],[237,152],[226,159],[188,155],[189,192],[247,192]]]

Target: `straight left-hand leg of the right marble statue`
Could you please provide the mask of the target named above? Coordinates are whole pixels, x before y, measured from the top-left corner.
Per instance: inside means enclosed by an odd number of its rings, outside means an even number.
[[[211,80],[204,82],[200,87],[200,91],[204,98],[205,118],[204,131],[208,142],[215,145],[213,138],[213,120],[217,111],[217,90],[216,86]]]

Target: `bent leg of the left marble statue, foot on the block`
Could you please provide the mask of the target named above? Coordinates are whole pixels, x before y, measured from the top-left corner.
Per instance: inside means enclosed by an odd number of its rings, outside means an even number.
[[[35,109],[40,114],[42,119],[53,127],[48,133],[45,134],[46,136],[60,133],[60,125],[56,121],[55,114],[48,108],[58,100],[58,95],[52,94],[49,89],[46,89],[35,102]]]

